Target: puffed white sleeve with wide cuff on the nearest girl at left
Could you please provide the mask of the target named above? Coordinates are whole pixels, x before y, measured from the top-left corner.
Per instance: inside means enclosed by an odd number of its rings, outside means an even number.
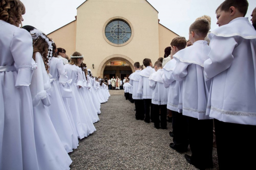
[[[32,70],[32,37],[24,29],[17,29],[13,33],[11,53],[18,70],[15,86],[29,86],[33,74]]]

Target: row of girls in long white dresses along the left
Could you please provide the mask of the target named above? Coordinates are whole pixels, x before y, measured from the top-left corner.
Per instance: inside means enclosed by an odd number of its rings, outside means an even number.
[[[96,131],[106,85],[81,53],[63,65],[51,38],[19,28],[22,2],[1,0],[0,14],[0,169],[67,170],[78,138]]]

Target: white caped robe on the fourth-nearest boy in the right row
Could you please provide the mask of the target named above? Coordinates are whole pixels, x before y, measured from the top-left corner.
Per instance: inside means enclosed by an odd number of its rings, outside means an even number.
[[[167,89],[162,80],[163,69],[159,69],[148,78],[149,86],[153,89],[151,103],[156,105],[167,104]]]

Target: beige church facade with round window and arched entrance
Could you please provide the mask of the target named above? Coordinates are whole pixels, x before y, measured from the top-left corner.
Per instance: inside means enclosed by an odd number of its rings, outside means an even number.
[[[86,0],[76,19],[48,34],[67,55],[78,51],[94,76],[128,77],[134,62],[164,56],[179,35],[159,23],[146,0]]]

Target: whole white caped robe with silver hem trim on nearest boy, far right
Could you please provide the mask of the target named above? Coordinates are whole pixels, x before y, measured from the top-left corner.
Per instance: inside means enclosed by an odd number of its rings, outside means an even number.
[[[239,17],[209,34],[210,59],[204,62],[212,78],[210,117],[223,122],[256,125],[256,31]]]

